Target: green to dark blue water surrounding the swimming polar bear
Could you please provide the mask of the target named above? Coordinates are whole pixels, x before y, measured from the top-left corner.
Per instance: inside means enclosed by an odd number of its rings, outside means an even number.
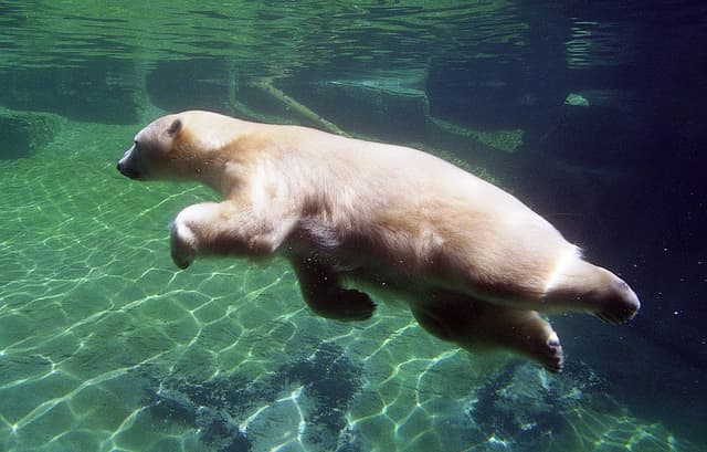
[[[0,450],[707,450],[707,12],[615,3],[0,1]],[[214,195],[115,164],[192,107],[440,154],[643,308],[552,316],[551,376],[395,306],[315,317],[281,261],[178,272],[169,223]]]

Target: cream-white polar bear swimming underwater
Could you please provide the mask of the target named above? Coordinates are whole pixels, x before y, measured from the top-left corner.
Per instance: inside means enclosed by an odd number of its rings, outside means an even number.
[[[179,212],[177,266],[283,256],[324,317],[367,319],[377,294],[404,302],[439,338],[557,372],[560,340],[539,313],[620,324],[640,307],[626,283],[515,197],[412,148],[191,111],[140,130],[118,170],[200,181],[223,197]]]

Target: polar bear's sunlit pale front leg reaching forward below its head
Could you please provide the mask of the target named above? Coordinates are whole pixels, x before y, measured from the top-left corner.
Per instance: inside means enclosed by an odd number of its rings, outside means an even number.
[[[172,224],[171,255],[187,269],[198,255],[265,257],[282,244],[294,221],[277,224],[234,201],[203,202],[183,209]]]

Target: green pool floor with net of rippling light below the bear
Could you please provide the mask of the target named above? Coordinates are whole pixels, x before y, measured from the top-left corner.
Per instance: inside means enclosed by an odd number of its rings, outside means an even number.
[[[395,307],[317,318],[283,262],[177,272],[169,222],[213,196],[119,176],[135,129],[0,160],[0,450],[690,450],[579,365],[473,357]]]

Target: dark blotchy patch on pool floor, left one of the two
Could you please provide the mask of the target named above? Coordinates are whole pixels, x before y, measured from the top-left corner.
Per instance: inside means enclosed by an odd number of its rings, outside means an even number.
[[[257,380],[239,375],[190,381],[151,377],[143,403],[156,421],[193,429],[214,451],[272,449],[277,430],[297,428],[313,450],[356,451],[346,412],[361,388],[361,369],[328,343]]]

